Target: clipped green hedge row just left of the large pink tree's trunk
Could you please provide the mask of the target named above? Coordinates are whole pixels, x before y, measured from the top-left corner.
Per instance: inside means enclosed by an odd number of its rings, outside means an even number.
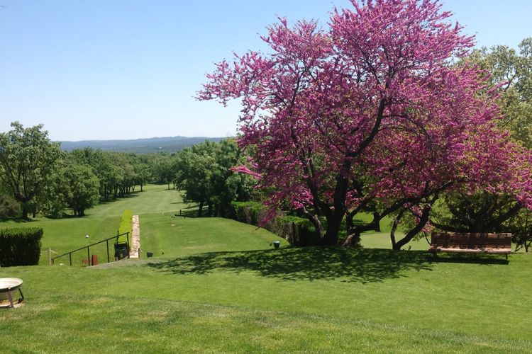
[[[233,209],[231,217],[246,224],[258,225],[267,213],[266,207],[260,202],[232,202],[231,206]],[[294,246],[316,246],[320,241],[309,219],[283,215],[282,212],[262,227],[281,236]]]

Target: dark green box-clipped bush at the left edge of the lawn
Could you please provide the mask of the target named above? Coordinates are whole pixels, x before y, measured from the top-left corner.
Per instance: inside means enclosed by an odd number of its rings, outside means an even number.
[[[0,229],[0,266],[38,264],[42,238],[38,227]]]

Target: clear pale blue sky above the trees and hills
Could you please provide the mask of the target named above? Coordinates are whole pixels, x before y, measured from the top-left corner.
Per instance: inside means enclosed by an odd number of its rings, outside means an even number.
[[[213,62],[265,49],[286,16],[348,0],[0,0],[0,131],[44,124],[54,140],[234,135],[238,103],[198,102]],[[532,0],[446,0],[479,46],[532,36]]]

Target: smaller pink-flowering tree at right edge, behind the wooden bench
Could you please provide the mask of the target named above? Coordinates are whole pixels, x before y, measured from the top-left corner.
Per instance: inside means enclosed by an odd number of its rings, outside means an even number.
[[[431,207],[442,193],[453,191],[463,195],[472,195],[488,192],[516,200],[516,210],[521,207],[532,208],[531,154],[518,144],[511,142],[506,132],[501,132],[492,125],[472,127],[469,135],[462,141],[462,147],[457,150],[462,156],[455,156],[454,161],[452,156],[440,159],[440,161],[433,160],[434,164],[431,166],[448,167],[437,171],[435,176],[431,176],[432,178],[427,178],[425,172],[414,173],[416,176],[424,176],[426,187],[419,188],[421,193],[417,193],[417,197],[416,193],[412,193],[408,202],[397,208],[398,212],[390,234],[394,249],[401,249],[421,231],[431,231],[432,222],[429,222]],[[420,161],[419,166],[422,166],[421,164]],[[430,168],[428,166],[429,171],[431,171]],[[404,178],[408,176],[408,173],[408,171],[397,173],[397,176],[402,175]],[[413,176],[410,181],[416,181],[416,177]],[[401,198],[401,195],[404,195],[401,191],[390,193],[386,202]],[[396,241],[394,232],[405,212],[411,213],[416,222],[410,225],[411,229],[406,231],[403,239]],[[440,228],[438,224],[434,226]]]

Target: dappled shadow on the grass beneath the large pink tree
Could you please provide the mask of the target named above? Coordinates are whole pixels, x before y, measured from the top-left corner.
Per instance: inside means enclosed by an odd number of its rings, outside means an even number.
[[[423,251],[287,247],[266,251],[213,252],[176,258],[148,266],[170,274],[207,274],[214,270],[250,270],[282,280],[340,280],[381,282],[401,278],[404,270],[431,270],[431,256]]]

